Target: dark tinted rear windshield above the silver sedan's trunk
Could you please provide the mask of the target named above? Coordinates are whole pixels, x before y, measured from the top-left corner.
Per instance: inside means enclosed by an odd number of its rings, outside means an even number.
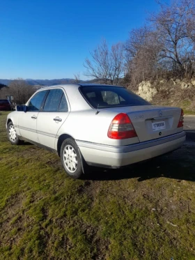
[[[95,109],[150,105],[139,95],[119,86],[80,86],[79,90]]]

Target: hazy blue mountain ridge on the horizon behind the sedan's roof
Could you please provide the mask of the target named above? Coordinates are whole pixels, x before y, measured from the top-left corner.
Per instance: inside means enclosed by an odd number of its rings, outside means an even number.
[[[9,85],[12,79],[0,79],[1,84]],[[54,86],[59,84],[74,83],[75,79],[25,79],[26,83],[31,86]],[[98,83],[98,79],[81,80],[80,83]]]

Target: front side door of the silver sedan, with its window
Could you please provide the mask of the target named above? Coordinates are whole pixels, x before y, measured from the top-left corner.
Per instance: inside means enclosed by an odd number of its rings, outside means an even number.
[[[36,132],[38,113],[42,109],[46,94],[47,91],[39,91],[33,95],[27,104],[27,112],[20,113],[18,118],[20,135],[36,143],[39,143]]]

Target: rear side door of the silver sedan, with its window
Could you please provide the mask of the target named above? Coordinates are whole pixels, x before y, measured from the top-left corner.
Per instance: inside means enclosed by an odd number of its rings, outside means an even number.
[[[69,111],[63,89],[50,89],[45,105],[38,114],[37,132],[40,144],[54,149],[57,132],[68,117]]]

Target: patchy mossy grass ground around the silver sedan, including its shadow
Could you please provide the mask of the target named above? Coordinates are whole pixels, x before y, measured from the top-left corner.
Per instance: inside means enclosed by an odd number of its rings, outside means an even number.
[[[0,259],[195,259],[195,147],[123,170],[66,176],[12,146],[0,114]]]

